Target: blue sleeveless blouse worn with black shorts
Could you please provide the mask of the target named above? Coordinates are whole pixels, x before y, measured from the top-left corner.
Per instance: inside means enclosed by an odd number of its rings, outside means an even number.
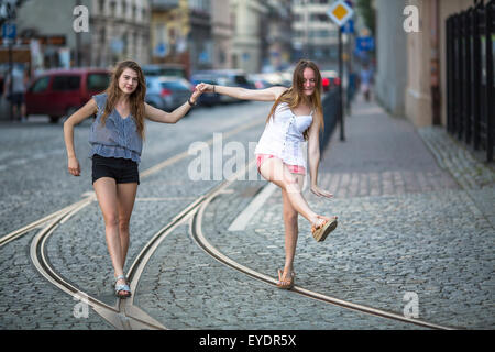
[[[117,109],[113,109],[107,117],[105,125],[102,125],[101,116],[107,103],[107,94],[97,95],[92,98],[98,106],[98,112],[89,130],[89,144],[91,144],[89,157],[98,154],[106,157],[130,158],[139,164],[143,150],[143,139],[138,132],[132,114],[124,119]]]

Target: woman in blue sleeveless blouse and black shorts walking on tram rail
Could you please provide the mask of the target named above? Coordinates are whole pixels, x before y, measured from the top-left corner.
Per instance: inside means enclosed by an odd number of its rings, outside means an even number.
[[[129,248],[129,223],[140,184],[138,165],[144,140],[144,119],[176,123],[196,103],[191,97],[173,112],[166,112],[144,102],[146,85],[141,67],[133,61],[117,65],[110,86],[94,96],[64,123],[68,172],[80,175],[74,147],[74,127],[96,113],[90,128],[89,143],[92,157],[92,185],[105,219],[107,246],[116,277],[116,295],[131,296],[123,274]]]

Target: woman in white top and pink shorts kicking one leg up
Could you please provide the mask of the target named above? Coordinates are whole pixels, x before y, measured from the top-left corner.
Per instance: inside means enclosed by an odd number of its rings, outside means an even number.
[[[255,154],[260,174],[282,188],[286,258],[284,271],[278,271],[277,286],[289,289],[294,286],[295,278],[293,263],[298,235],[298,213],[311,223],[312,235],[318,242],[323,241],[337,227],[337,217],[328,218],[316,213],[301,194],[306,174],[301,143],[307,140],[311,191],[320,197],[333,197],[317,186],[319,132],[323,129],[320,72],[315,63],[302,59],[294,70],[293,86],[288,89],[244,89],[204,82],[197,89],[244,100],[275,101]]]

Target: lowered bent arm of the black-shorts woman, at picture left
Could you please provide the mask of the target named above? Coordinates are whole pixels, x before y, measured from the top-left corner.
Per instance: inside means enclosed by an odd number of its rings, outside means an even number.
[[[74,112],[64,122],[64,141],[67,150],[68,170],[74,176],[80,175],[80,166],[74,148],[74,127],[95,114],[97,110],[98,106],[95,99],[90,99],[82,108]]]

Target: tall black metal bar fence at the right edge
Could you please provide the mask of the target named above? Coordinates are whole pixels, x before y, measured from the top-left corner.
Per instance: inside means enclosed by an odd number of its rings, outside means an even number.
[[[476,1],[475,1],[476,2]],[[493,161],[495,0],[447,20],[447,130]]]

